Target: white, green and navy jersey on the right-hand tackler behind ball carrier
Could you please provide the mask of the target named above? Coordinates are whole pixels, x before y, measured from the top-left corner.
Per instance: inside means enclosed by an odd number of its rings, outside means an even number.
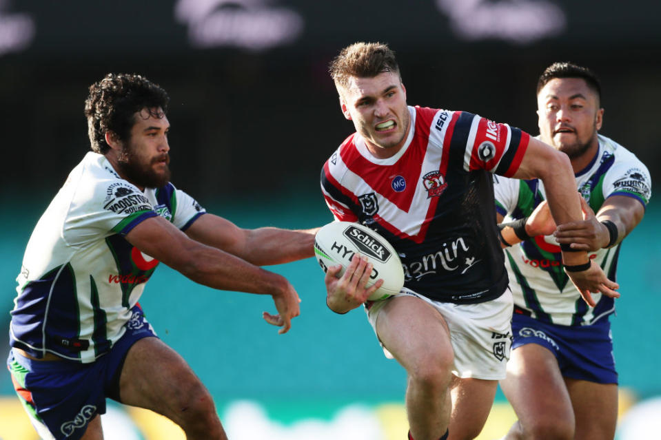
[[[610,196],[635,198],[647,206],[651,180],[647,167],[618,143],[598,136],[599,150],[578,174],[578,191],[597,212]],[[540,180],[496,178],[496,210],[506,222],[529,216],[546,199]],[[620,244],[589,253],[610,280],[616,281]],[[562,254],[553,235],[525,240],[505,249],[505,264],[514,294],[516,313],[563,326],[589,325],[615,310],[613,298],[593,293],[589,307],[562,268]]]

